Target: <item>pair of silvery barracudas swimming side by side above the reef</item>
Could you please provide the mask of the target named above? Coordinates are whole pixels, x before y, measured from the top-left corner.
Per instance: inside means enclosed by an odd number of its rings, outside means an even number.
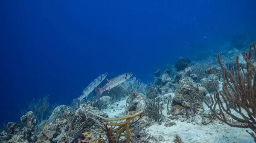
[[[86,99],[87,99],[88,95],[93,90],[95,90],[96,96],[97,96],[97,99],[96,99],[96,102],[97,102],[97,101],[99,101],[99,98],[101,97],[101,95],[104,91],[108,90],[108,93],[109,93],[113,87],[115,87],[115,86],[121,84],[122,82],[124,82],[125,80],[129,79],[133,75],[133,73],[121,74],[111,80],[108,80],[108,83],[106,85],[104,85],[103,87],[97,87],[107,77],[107,75],[108,75],[108,73],[103,73],[102,75],[100,75],[96,79],[94,79],[86,88],[84,88],[81,96],[79,98],[74,99],[73,101],[77,101],[78,105],[80,105],[80,101],[84,97],[86,97]]]

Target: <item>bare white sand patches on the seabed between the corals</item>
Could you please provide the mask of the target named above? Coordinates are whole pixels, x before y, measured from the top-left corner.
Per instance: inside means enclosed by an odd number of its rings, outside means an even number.
[[[114,104],[119,104],[119,107],[125,105],[125,101],[119,101]],[[209,110],[204,104],[204,109]],[[116,108],[103,110],[108,114],[109,118],[115,118],[125,109]],[[163,113],[167,111],[163,110]],[[208,124],[194,125],[181,121],[175,121],[175,126],[166,127],[165,123],[161,125],[154,124],[146,129],[146,132],[157,139],[157,143],[173,143],[175,135],[180,135],[183,143],[254,143],[253,138],[246,132],[252,132],[251,129],[241,129],[230,127],[226,124]]]

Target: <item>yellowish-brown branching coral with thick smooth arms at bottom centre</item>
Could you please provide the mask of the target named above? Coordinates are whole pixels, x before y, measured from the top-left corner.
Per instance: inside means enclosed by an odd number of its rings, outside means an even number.
[[[100,121],[94,118],[91,118],[97,123],[99,123],[99,125],[102,127],[102,130],[93,130],[93,129],[91,130],[93,132],[96,132],[99,135],[106,135],[108,139],[108,143],[118,143],[121,136],[126,136],[126,142],[130,143],[130,136],[131,136],[130,126],[133,125],[134,123],[137,123],[137,121],[139,121],[145,115],[144,111],[139,111],[134,115],[130,115],[130,113],[128,112],[127,116],[120,117],[120,118],[105,118],[100,115],[96,115],[91,111],[87,111],[87,112],[92,115],[95,115],[98,118],[109,121],[109,123],[101,123]],[[130,123],[130,121],[132,121],[137,116],[139,116],[139,119]],[[125,120],[125,121],[120,123],[114,122],[114,121],[120,121],[120,120]],[[126,131],[126,134],[124,134],[125,131]]]

